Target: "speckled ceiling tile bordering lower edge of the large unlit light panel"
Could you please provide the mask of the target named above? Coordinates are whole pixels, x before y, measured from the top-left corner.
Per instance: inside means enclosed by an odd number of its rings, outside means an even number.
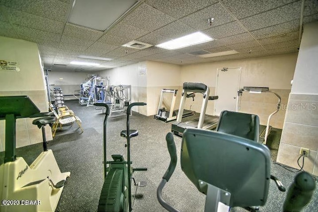
[[[66,36],[84,38],[84,39],[92,40],[92,41],[98,40],[101,36],[103,36],[103,34],[104,33],[97,30],[92,30],[89,28],[73,25],[70,23],[67,23],[65,25],[65,29],[63,32],[63,35],[66,35]]]

